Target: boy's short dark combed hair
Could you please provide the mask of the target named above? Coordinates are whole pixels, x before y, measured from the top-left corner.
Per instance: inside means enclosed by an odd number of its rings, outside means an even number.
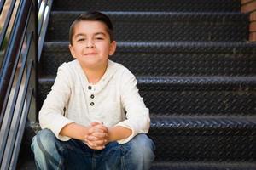
[[[106,14],[102,14],[97,11],[90,11],[84,14],[80,14],[79,17],[73,21],[73,24],[69,28],[69,43],[73,44],[74,28],[80,21],[100,21],[106,28],[110,37],[110,42],[113,42],[113,24]]]

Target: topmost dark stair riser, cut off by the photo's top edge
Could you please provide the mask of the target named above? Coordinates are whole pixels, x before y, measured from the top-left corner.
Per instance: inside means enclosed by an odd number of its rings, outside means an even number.
[[[54,10],[108,11],[240,11],[240,0],[55,0]]]

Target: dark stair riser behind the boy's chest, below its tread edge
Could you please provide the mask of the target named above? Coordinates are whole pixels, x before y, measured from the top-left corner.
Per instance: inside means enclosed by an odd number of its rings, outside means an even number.
[[[39,82],[38,108],[41,108],[52,85],[53,81]],[[256,113],[255,88],[219,90],[213,86],[214,90],[211,90],[201,89],[204,88],[202,85],[194,90],[177,90],[166,87],[165,90],[157,90],[138,84],[151,116],[255,116]]]

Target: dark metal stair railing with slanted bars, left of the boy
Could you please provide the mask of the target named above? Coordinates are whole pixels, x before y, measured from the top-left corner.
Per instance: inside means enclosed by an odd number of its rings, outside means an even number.
[[[0,8],[4,5],[4,2],[1,1]],[[12,1],[12,5],[15,4],[14,2],[15,0]],[[32,100],[36,100],[37,64],[43,50],[52,3],[52,0],[24,0],[20,1],[17,10],[8,48],[5,50],[6,53],[3,58],[4,62],[0,77],[0,169],[15,169],[27,117],[32,112],[32,108],[34,113],[38,112],[36,102],[32,103]],[[43,14],[40,20],[38,20],[40,8],[43,8]],[[46,13],[46,11],[48,12]],[[12,13],[13,9],[9,10],[4,24],[5,27],[9,26],[9,16]],[[5,34],[6,30],[3,30],[1,38],[5,37]],[[0,42],[2,43],[1,38]],[[26,48],[24,48],[24,45],[26,45]],[[24,50],[24,53],[22,53],[22,50]],[[15,81],[20,58],[22,63],[19,77]],[[26,75],[25,87],[21,101],[17,103],[24,75]],[[10,99],[11,91],[14,90],[14,82],[16,82],[15,94],[13,99]],[[19,104],[18,109],[17,104]],[[9,111],[7,111],[8,105],[11,105]],[[36,122],[35,117],[34,115],[34,119],[30,121]]]

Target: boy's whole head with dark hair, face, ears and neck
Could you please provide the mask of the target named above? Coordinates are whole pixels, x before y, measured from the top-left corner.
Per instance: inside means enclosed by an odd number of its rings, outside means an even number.
[[[74,20],[69,41],[73,58],[78,59],[84,69],[104,69],[116,49],[113,25],[108,16],[100,12],[87,12]]]

